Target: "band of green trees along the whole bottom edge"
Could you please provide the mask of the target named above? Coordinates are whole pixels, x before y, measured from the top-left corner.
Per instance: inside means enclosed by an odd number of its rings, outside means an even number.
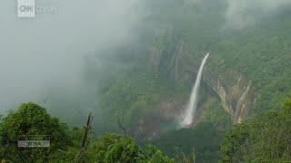
[[[106,133],[95,138],[90,126],[70,129],[45,108],[29,102],[1,119],[0,157],[2,162],[288,162],[291,99],[280,106],[279,110],[256,114],[227,132],[201,122],[193,130],[168,133],[154,141],[161,147],[158,149],[123,134]],[[18,148],[19,135],[49,135],[50,148]]]

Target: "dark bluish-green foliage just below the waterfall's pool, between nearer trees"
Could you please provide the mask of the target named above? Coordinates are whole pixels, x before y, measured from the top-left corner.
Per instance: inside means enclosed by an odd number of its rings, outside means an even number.
[[[195,129],[171,131],[156,139],[154,144],[170,156],[178,158],[181,158],[181,155],[182,158],[189,158],[195,148],[196,161],[213,162],[216,160],[216,149],[225,133],[214,125],[206,121],[199,123]],[[183,157],[184,155],[186,157]]]

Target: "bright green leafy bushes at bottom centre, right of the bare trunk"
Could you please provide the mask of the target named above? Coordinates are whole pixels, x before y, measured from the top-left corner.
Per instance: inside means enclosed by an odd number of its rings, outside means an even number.
[[[134,139],[117,135],[105,134],[97,139],[88,155],[93,162],[174,162],[166,157],[155,146],[147,145],[140,148]]]

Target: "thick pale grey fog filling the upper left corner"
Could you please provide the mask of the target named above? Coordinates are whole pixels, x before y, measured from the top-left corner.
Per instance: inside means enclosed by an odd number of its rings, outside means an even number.
[[[46,2],[45,2],[46,1]],[[84,56],[135,40],[135,0],[50,0],[55,13],[18,18],[16,1],[0,1],[0,109],[43,101],[55,87],[82,84]]]

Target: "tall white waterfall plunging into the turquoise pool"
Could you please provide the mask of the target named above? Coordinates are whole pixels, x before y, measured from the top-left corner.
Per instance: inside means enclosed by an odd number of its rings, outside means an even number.
[[[193,90],[191,92],[191,96],[189,99],[189,102],[187,104],[186,107],[186,111],[184,113],[184,115],[182,115],[182,120],[181,120],[181,127],[182,128],[187,128],[189,127],[189,125],[192,124],[193,122],[193,118],[195,117],[195,113],[196,113],[196,108],[197,108],[197,98],[198,98],[198,92],[199,92],[199,87],[200,87],[200,82],[201,82],[201,78],[202,78],[202,72],[203,72],[203,68],[206,64],[206,60],[208,58],[209,53],[206,54],[205,58],[203,59],[197,77],[196,77],[196,82],[195,85],[193,87]]]

